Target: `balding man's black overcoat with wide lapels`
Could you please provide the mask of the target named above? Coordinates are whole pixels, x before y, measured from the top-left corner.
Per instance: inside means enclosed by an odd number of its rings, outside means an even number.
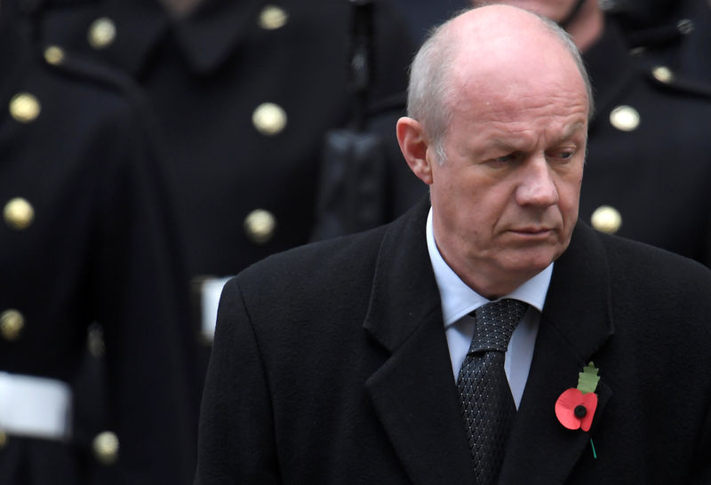
[[[228,283],[196,483],[475,482],[428,207]],[[500,482],[708,483],[709,289],[704,266],[579,223],[555,262]],[[555,402],[590,361],[593,427],[571,431]]]

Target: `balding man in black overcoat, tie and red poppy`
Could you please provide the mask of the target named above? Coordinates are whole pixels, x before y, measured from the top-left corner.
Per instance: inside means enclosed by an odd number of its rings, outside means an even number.
[[[590,103],[574,47],[529,12],[491,5],[439,28],[397,123],[431,208],[228,283],[196,483],[708,481],[711,382],[693,370],[711,364],[711,273],[576,223]],[[486,448],[467,338],[503,302],[528,308],[491,351],[517,411],[509,430],[483,423],[501,432]],[[596,408],[557,417],[591,361]],[[484,461],[493,478],[476,481]]]

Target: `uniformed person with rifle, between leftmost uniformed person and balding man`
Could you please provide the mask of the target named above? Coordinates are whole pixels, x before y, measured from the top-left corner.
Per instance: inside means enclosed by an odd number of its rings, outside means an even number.
[[[172,158],[181,240],[198,290],[308,242],[324,133],[348,123],[355,104],[351,2],[30,4],[42,38],[94,52],[146,91]],[[403,90],[414,52],[386,8],[374,3],[372,99]]]

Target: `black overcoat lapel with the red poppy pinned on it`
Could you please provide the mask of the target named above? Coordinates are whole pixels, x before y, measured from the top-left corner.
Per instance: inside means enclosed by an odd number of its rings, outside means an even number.
[[[562,483],[581,457],[587,453],[592,459],[590,440],[611,399],[604,369],[589,433],[564,428],[555,417],[555,401],[565,389],[578,386],[578,373],[595,361],[612,332],[608,266],[592,229],[579,224],[571,246],[555,262],[501,483],[524,483],[531,477],[539,483]]]

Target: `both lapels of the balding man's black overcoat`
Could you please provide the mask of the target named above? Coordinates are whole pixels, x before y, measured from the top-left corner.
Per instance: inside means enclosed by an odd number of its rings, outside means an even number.
[[[412,481],[473,483],[439,292],[427,256],[428,208],[426,198],[388,227],[383,238],[364,329],[390,356],[366,387]],[[578,372],[612,333],[609,288],[603,249],[592,229],[579,224],[569,249],[555,263],[502,483],[524,483],[531,476],[563,481],[589,449],[611,397],[604,375],[590,433],[563,428],[555,417],[555,401],[577,385]]]

